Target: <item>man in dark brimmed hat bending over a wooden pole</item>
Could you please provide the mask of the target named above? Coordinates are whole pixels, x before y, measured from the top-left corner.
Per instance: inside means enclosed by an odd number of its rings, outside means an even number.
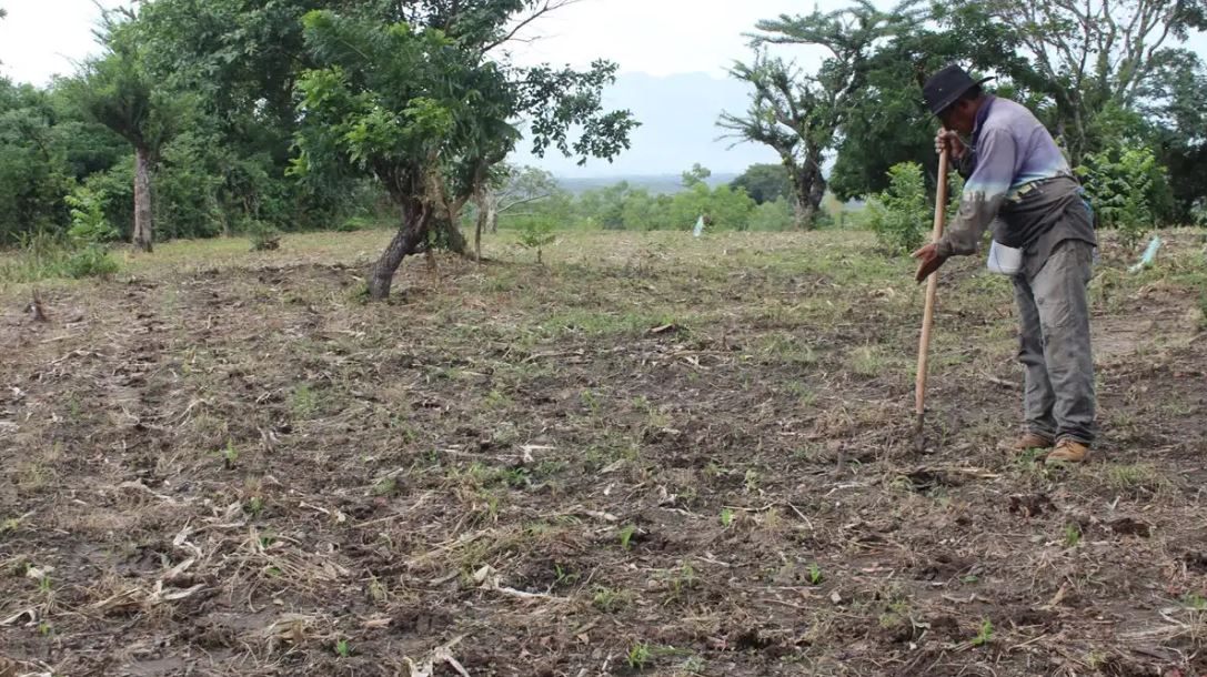
[[[1026,107],[985,94],[987,80],[973,81],[951,65],[923,86],[927,107],[943,122],[935,148],[947,148],[967,182],[950,229],[914,252],[917,281],[951,256],[975,253],[986,228],[999,244],[1022,250],[1013,279],[1026,430],[1002,447],[1051,449],[1049,463],[1081,462],[1095,434],[1086,300],[1097,246],[1092,217],[1051,134]]]

